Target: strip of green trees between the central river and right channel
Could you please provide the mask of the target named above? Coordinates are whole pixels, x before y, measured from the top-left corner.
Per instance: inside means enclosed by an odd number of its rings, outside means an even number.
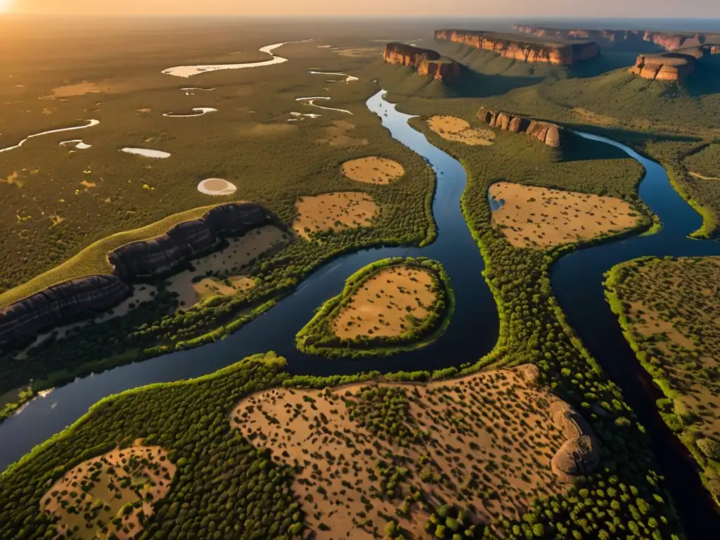
[[[423,122],[417,125],[422,127]],[[538,166],[536,161],[525,161],[523,153],[516,153],[512,159],[505,156],[499,140],[502,132],[495,138],[498,143],[480,150],[442,140],[427,129],[423,132],[434,145],[462,161],[468,172],[462,208],[485,258],[484,276],[498,302],[500,315],[498,345],[459,374],[487,366],[536,364],[544,384],[582,413],[602,444],[603,462],[598,471],[567,495],[534,501],[524,518],[529,530],[541,524],[545,535],[541,537],[548,538],[560,535],[616,538],[635,534],[660,539],[679,534],[668,495],[647,451],[644,429],[623,401],[618,387],[608,381],[567,325],[552,293],[549,270],[553,261],[576,246],[544,252],[513,248],[492,228],[487,204],[487,189],[498,179],[634,200],[641,169],[627,158],[608,159],[616,154],[601,143],[588,142],[588,150],[596,152],[596,161],[590,159],[591,153],[585,161],[572,161],[572,154],[567,154],[563,161]],[[533,143],[530,138],[511,134],[510,137],[518,140],[517,144]],[[542,146],[536,143],[539,153],[546,151]],[[595,168],[603,174],[583,174],[582,168]],[[454,369],[443,370],[445,377],[454,373]],[[608,497],[619,499],[613,503]],[[641,507],[643,510],[638,511]],[[524,528],[516,529],[503,522],[500,530],[510,537],[522,538]]]

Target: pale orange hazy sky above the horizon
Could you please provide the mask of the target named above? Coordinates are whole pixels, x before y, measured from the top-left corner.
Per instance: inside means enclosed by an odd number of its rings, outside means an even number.
[[[720,17],[719,0],[0,0],[48,14],[422,15],[446,17]]]

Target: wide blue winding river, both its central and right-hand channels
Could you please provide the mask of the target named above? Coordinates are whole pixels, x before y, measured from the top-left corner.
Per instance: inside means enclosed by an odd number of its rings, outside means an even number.
[[[333,259],[302,282],[293,294],[225,340],[77,379],[35,398],[22,412],[0,424],[3,441],[0,468],[72,423],[102,397],[143,384],[197,377],[257,352],[274,350],[285,356],[287,369],[294,374],[328,375],[354,374],[359,370],[440,369],[476,361],[491,351],[498,339],[498,310],[480,276],[484,263],[460,212],[459,199],[467,180],[465,171],[458,161],[410,127],[410,116],[397,112],[395,105],[384,101],[383,94],[384,91],[379,91],[372,96],[367,107],[379,115],[393,138],[423,156],[438,177],[433,199],[438,238],[434,243],[425,248],[366,249]],[[581,135],[615,145],[642,163],[647,174],[639,194],[660,216],[663,227],[655,235],[606,243],[564,256],[554,265],[552,285],[570,324],[610,378],[620,385],[647,428],[686,530],[693,537],[702,538],[702,531],[718,530],[719,516],[708,504],[692,464],[684,458],[684,448],[673,444],[675,438],[654,410],[654,397],[648,397],[639,377],[639,364],[604,300],[602,281],[604,271],[630,258],[720,255],[720,244],[686,238],[700,227],[701,217],[672,189],[660,165],[612,140]],[[444,335],[429,346],[391,359],[330,360],[297,351],[294,336],[310,320],[315,308],[338,294],[354,271],[390,256],[427,256],[444,265],[457,292],[454,318]]]

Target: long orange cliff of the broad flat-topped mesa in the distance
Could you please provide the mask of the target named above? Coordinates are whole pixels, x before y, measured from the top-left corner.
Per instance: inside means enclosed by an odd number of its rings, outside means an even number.
[[[435,39],[489,50],[505,58],[521,62],[549,63],[559,66],[572,66],[600,54],[598,44],[592,41],[582,43],[525,41],[518,39],[513,34],[475,30],[436,30]]]

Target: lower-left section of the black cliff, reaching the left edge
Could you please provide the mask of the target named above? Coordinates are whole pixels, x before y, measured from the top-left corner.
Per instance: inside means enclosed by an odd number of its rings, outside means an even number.
[[[104,311],[125,300],[130,287],[117,276],[95,275],[58,283],[0,308],[0,343],[10,343],[87,311]]]

